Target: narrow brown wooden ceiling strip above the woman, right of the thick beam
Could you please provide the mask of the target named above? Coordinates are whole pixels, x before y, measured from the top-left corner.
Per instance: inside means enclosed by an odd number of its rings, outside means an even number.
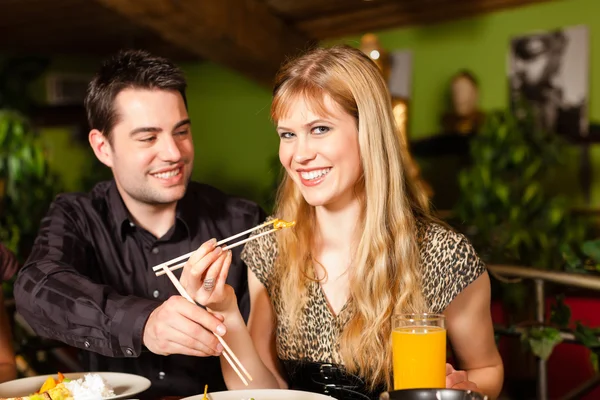
[[[548,1],[552,0],[422,0],[420,5],[399,1],[337,16],[298,21],[296,27],[303,32],[312,32],[316,39],[323,40],[372,30],[440,23]],[[423,3],[427,6],[424,7]]]

